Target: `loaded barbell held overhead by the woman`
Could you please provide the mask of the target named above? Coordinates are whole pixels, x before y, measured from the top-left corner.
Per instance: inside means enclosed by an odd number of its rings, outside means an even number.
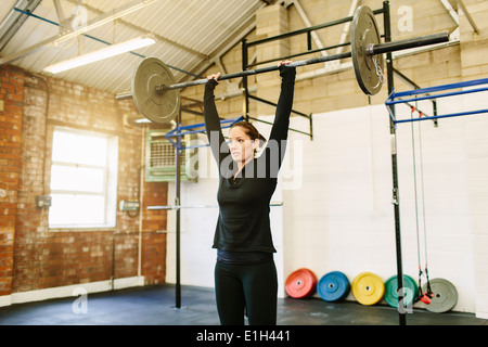
[[[359,7],[352,17],[350,44],[351,51],[312,57],[291,63],[288,66],[305,66],[323,62],[351,57],[352,66],[361,90],[368,95],[380,92],[383,80],[383,53],[389,53],[416,47],[449,41],[448,33],[433,34],[396,42],[380,43],[380,31],[373,11],[364,5]],[[227,74],[219,80],[264,74],[278,70],[279,67],[267,66]],[[116,95],[117,100],[132,98],[138,111],[151,121],[169,123],[180,111],[180,93],[178,89],[205,85],[208,79],[197,79],[176,83],[170,69],[156,57],[146,57],[137,67],[132,76],[131,92]]]

